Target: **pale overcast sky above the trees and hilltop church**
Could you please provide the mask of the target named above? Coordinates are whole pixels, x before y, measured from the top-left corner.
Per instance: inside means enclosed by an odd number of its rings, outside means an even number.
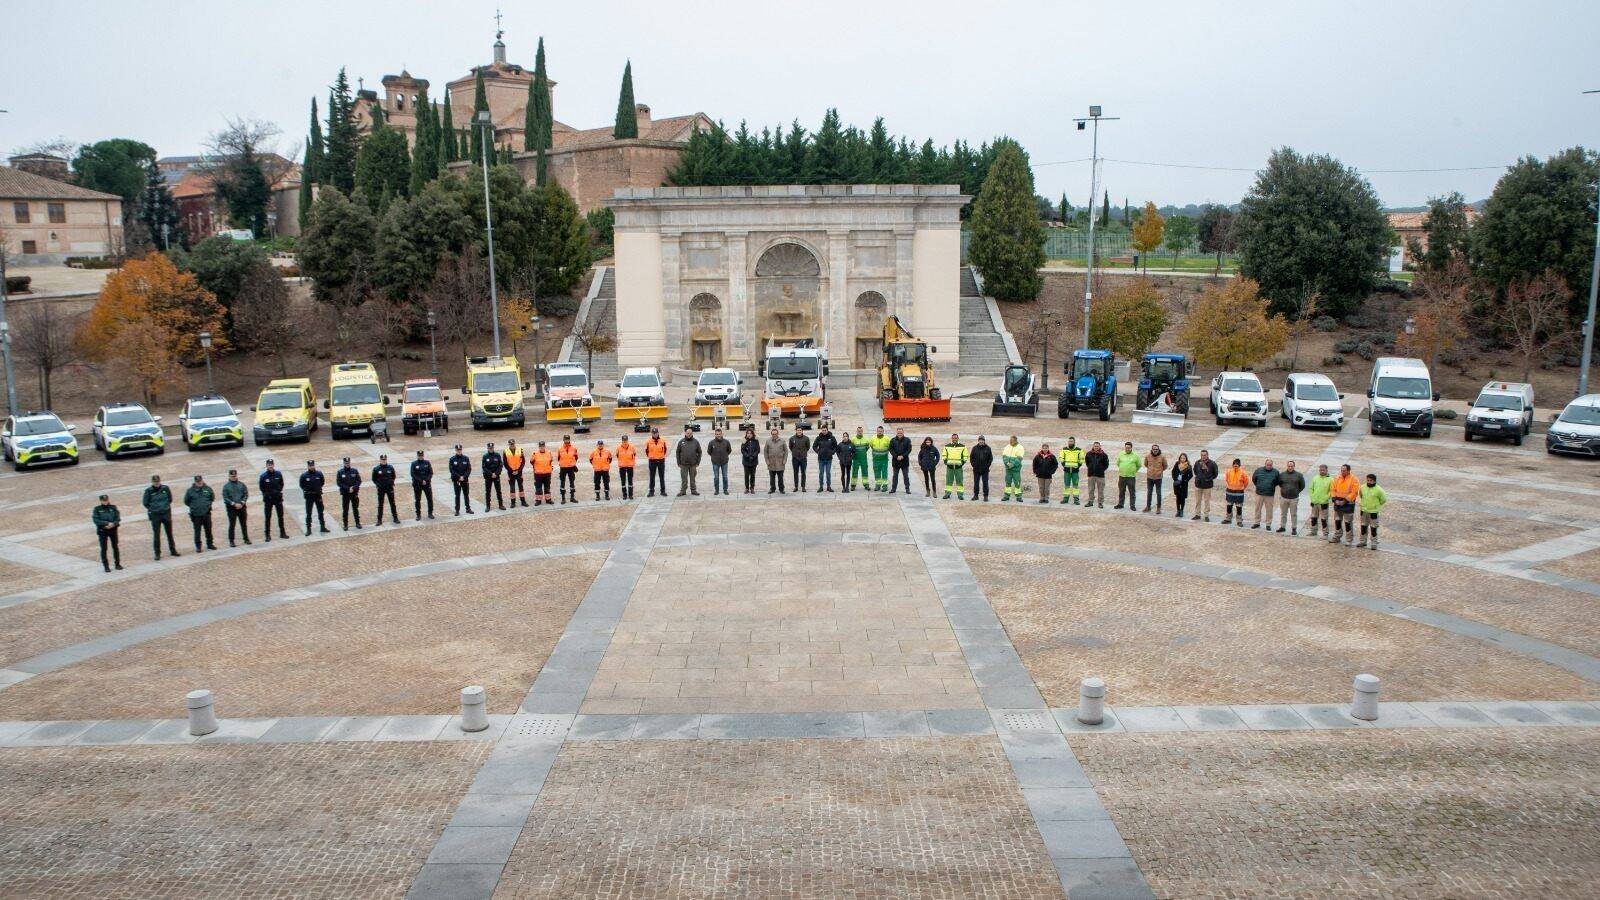
[[[493,0],[5,6],[0,151],[126,136],[163,155],[197,152],[230,115],[270,120],[282,149],[299,146],[307,104],[339,66],[374,88],[402,66],[442,85],[490,59],[496,10]],[[837,106],[846,123],[883,115],[915,141],[1011,135],[1032,155],[1038,191],[1075,205],[1088,194],[1090,138],[1072,117],[1091,102],[1122,117],[1101,128],[1117,203],[1235,202],[1285,144],[1360,168],[1386,205],[1448,191],[1482,199],[1518,155],[1600,144],[1600,96],[1579,94],[1600,88],[1594,0],[502,0],[501,10],[514,62],[531,67],[546,38],[555,115],[568,125],[611,122],[632,58],[635,96],[658,117],[814,127]],[[1470,167],[1496,168],[1379,171]]]

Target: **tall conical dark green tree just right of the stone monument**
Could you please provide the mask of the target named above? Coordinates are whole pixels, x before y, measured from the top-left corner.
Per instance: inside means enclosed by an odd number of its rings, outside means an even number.
[[[968,258],[995,299],[1034,299],[1043,288],[1045,223],[1034,203],[1027,154],[1008,138],[995,141],[994,163],[973,203]]]

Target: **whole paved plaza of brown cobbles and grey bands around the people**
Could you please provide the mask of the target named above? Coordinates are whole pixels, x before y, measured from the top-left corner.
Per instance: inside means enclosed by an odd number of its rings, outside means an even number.
[[[576,506],[478,493],[470,517],[438,480],[422,522],[402,482],[402,525],[368,508],[310,538],[291,488],[286,541],[261,540],[251,496],[253,544],[219,530],[192,554],[179,516],[182,556],[155,562],[150,474],[238,468],[254,495],[269,456],[440,464],[454,440],[560,432],[0,472],[0,897],[1592,892],[1600,468],[1446,428],[986,405],[907,431],[1352,461],[1389,490],[1382,549],[1176,519],[1171,498],[1038,504],[1032,479],[1000,503],[998,468],[981,503],[765,477],[746,496],[738,471],[710,496],[707,464],[699,496],[669,472],[669,496],[640,479],[595,503],[584,469]],[[835,408],[878,421],[861,391]],[[125,517],[110,575],[101,492]],[[1382,682],[1376,721],[1350,716],[1358,673]],[[1091,676],[1098,725],[1075,717]],[[462,729],[466,685],[488,729]],[[221,717],[198,738],[197,689]]]

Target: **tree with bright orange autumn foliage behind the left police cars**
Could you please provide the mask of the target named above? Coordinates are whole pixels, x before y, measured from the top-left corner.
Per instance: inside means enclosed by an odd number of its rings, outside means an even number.
[[[157,391],[182,384],[181,367],[202,362],[200,331],[211,331],[213,349],[227,349],[224,314],[194,274],[150,253],[106,279],[78,346],[90,359],[120,364],[154,402]]]

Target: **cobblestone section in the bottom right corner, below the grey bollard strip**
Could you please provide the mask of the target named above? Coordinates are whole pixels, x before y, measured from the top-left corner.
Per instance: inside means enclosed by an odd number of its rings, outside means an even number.
[[[1158,897],[1592,897],[1579,729],[1080,735]]]

